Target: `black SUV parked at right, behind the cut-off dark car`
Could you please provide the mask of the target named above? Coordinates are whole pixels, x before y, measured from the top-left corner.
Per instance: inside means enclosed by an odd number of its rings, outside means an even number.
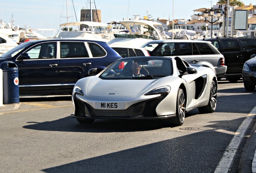
[[[256,38],[249,37],[221,37],[205,39],[223,54],[227,72],[225,78],[230,82],[237,82],[242,77],[244,63],[256,54]]]

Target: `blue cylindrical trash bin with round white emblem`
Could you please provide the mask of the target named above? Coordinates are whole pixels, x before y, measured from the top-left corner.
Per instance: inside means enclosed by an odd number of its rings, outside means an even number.
[[[12,61],[4,61],[0,64],[0,68],[3,71],[3,103],[19,103],[18,66]]]

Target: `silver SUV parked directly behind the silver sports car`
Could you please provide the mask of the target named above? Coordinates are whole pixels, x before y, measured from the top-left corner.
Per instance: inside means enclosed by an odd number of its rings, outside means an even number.
[[[152,40],[142,46],[151,56],[179,56],[189,64],[211,67],[216,76],[226,73],[225,59],[211,42],[200,40]]]

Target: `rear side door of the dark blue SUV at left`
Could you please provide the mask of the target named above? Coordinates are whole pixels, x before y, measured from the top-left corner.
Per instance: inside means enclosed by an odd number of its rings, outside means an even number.
[[[61,41],[58,64],[58,85],[60,89],[71,89],[77,80],[85,77],[93,68],[89,54],[83,41]]]

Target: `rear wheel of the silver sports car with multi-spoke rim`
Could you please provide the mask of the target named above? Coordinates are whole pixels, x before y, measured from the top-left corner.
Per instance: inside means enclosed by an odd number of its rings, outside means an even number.
[[[213,113],[216,109],[216,106],[217,106],[217,85],[215,81],[213,81],[211,85],[209,103],[204,107],[199,107],[198,111],[200,113]]]

